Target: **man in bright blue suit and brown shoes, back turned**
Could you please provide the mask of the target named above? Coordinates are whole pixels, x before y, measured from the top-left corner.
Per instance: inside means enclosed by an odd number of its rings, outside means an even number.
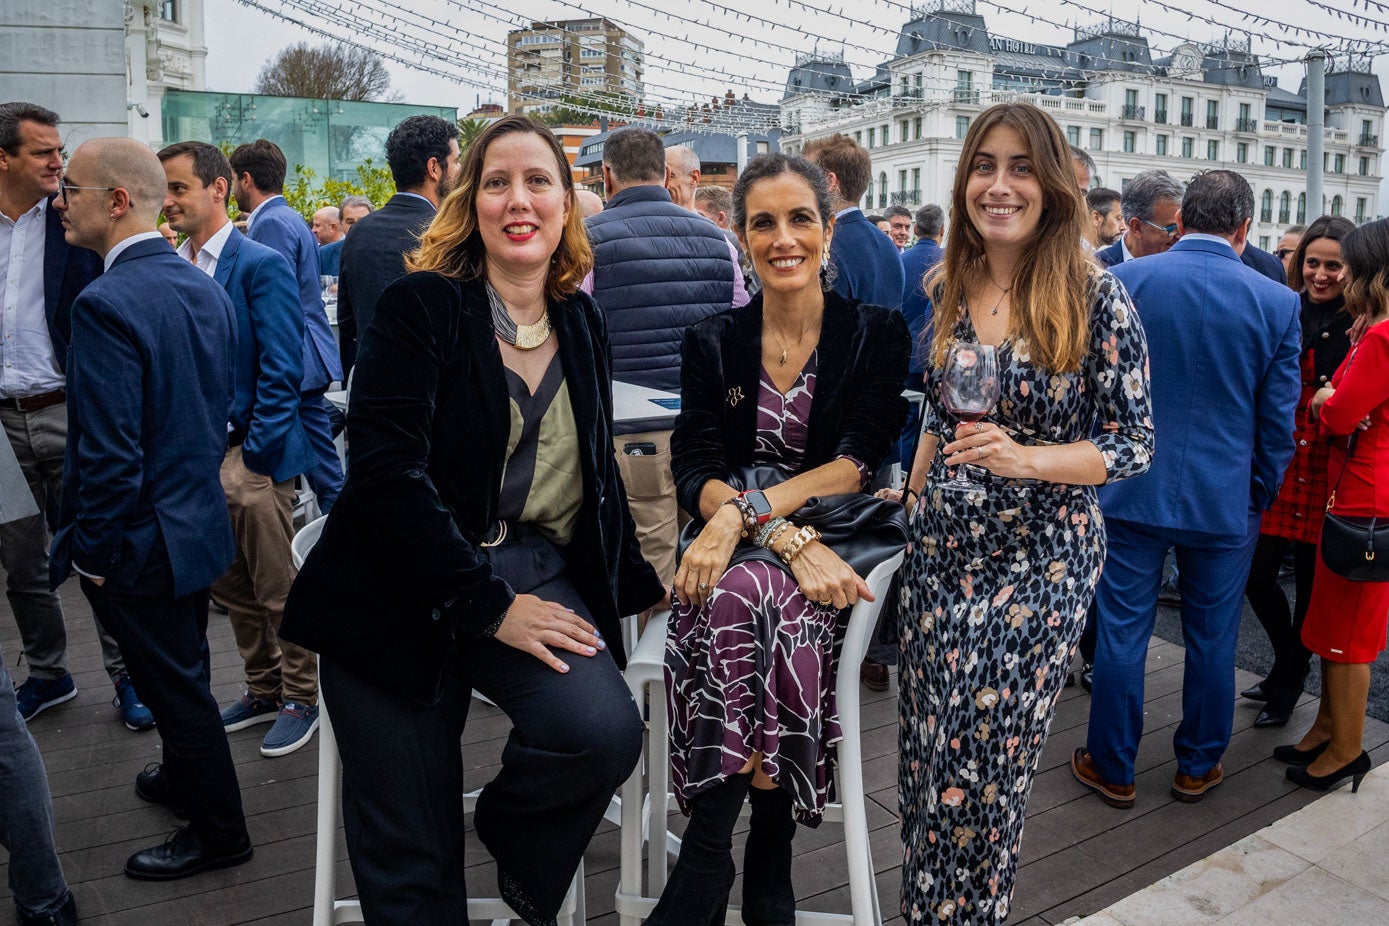
[[[1133,805],[1143,664],[1170,547],[1186,643],[1172,797],[1199,801],[1224,777],[1245,578],[1260,514],[1293,455],[1300,389],[1297,294],[1239,260],[1253,212],[1240,175],[1199,174],[1182,197],[1182,239],[1113,268],[1147,333],[1157,429],[1153,468],[1100,489],[1108,555],[1096,590],[1095,697],[1088,750],[1071,768],[1114,807]]]

